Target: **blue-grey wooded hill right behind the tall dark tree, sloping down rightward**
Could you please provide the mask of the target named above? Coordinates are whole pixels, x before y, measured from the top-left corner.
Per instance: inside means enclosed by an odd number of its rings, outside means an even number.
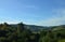
[[[15,25],[15,24],[12,24],[11,26],[13,26],[13,27],[17,27],[17,25]],[[31,30],[31,31],[40,31],[40,30],[42,30],[42,29],[48,29],[49,27],[46,27],[46,26],[37,26],[37,25],[24,25],[24,27],[26,28],[26,29],[29,29],[29,30]]]

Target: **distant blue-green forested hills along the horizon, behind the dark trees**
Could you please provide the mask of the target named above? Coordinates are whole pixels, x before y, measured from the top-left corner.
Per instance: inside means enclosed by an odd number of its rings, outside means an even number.
[[[11,26],[13,26],[14,28],[17,27],[17,24],[11,24]],[[42,30],[55,30],[55,29],[60,29],[60,28],[65,28],[65,25],[60,25],[60,26],[37,26],[37,25],[24,25],[24,27],[26,29],[29,29],[30,31],[42,31]]]

